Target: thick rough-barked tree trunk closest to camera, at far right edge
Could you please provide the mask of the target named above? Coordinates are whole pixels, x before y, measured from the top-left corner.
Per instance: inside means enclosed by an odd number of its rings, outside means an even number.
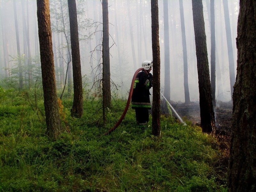
[[[256,1],[240,0],[228,189],[256,191]]]

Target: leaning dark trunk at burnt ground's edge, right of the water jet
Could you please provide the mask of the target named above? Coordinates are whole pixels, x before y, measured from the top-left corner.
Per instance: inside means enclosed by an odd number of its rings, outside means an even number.
[[[216,127],[212,105],[212,90],[206,48],[202,0],[192,0],[192,10],[196,42],[201,127],[203,132],[210,133],[215,131]]]

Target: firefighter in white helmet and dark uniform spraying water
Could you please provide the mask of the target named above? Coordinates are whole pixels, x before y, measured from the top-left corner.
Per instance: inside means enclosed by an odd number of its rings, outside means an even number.
[[[152,70],[152,60],[145,60],[142,62],[143,70],[136,76],[133,92],[132,92],[132,108],[135,109],[136,122],[140,126],[147,125],[148,122],[148,110],[151,109],[149,89],[153,86],[153,75],[150,73]]]

